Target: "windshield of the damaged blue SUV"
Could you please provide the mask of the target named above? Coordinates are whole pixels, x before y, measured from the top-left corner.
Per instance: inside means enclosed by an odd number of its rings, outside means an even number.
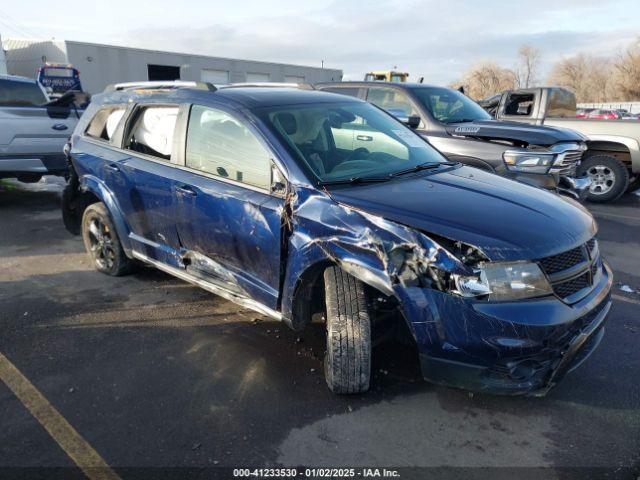
[[[412,130],[368,103],[284,105],[256,114],[321,182],[388,178],[447,161]]]

